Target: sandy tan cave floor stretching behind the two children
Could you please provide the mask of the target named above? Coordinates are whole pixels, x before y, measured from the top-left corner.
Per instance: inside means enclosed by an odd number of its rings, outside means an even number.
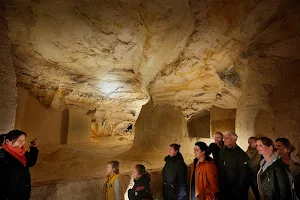
[[[132,149],[133,136],[109,136],[92,139],[88,144],[39,146],[39,158],[31,168],[33,185],[63,181],[102,178],[110,160],[120,162],[120,172],[132,171],[134,165],[144,164],[147,169],[159,169],[164,165],[166,151]],[[185,156],[186,163],[192,157]]]

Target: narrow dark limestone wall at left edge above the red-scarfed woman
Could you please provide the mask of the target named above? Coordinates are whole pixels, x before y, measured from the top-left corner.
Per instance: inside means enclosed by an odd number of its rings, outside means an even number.
[[[3,0],[0,0],[0,30],[0,133],[7,133],[14,127],[17,88]]]

